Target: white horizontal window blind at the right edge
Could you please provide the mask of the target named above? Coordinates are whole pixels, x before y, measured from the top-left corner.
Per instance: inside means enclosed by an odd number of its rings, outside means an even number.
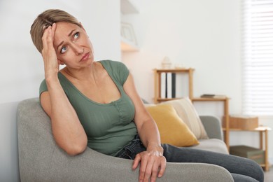
[[[273,0],[243,3],[243,113],[273,116]]]

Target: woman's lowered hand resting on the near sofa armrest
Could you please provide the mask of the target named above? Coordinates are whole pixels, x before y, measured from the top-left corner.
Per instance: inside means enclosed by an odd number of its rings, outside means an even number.
[[[148,149],[148,148],[147,148]],[[132,169],[137,169],[139,162],[139,181],[155,181],[157,177],[162,177],[166,169],[166,158],[163,150],[147,150],[136,155]]]

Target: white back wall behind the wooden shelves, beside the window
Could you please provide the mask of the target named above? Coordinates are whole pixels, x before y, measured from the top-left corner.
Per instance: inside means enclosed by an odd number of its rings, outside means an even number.
[[[241,1],[151,0],[141,1],[140,7],[139,14],[122,16],[123,22],[134,26],[140,50],[123,52],[122,57],[141,97],[153,102],[153,69],[167,56],[173,64],[195,68],[195,97],[225,94],[230,97],[230,113],[241,113]],[[219,102],[199,102],[195,107],[200,115],[223,116]],[[260,124],[273,127],[266,120]],[[255,132],[230,134],[231,145],[258,146],[258,142]],[[273,162],[270,144],[269,158]]]

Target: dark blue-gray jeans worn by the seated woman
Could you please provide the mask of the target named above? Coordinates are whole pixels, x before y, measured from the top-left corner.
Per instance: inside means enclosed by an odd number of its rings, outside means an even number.
[[[167,162],[198,162],[218,165],[227,169],[234,181],[263,181],[263,170],[256,162],[235,155],[214,153],[194,148],[162,144]],[[138,136],[125,146],[116,157],[134,160],[138,153],[146,151]]]

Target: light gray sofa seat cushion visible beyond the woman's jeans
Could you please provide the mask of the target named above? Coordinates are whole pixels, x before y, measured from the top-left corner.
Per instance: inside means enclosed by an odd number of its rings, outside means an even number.
[[[228,148],[225,145],[225,142],[220,139],[200,139],[199,145],[189,146],[189,148],[228,154]]]

